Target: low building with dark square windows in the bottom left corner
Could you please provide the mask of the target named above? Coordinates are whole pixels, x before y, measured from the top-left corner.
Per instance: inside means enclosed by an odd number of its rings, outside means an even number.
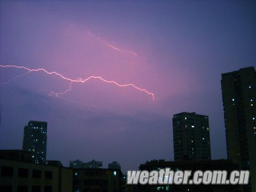
[[[51,163],[35,164],[0,159],[0,191],[70,192],[73,170]]]

